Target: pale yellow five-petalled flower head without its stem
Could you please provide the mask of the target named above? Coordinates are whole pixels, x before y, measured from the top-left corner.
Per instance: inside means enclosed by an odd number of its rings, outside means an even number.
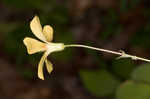
[[[47,60],[47,56],[52,52],[64,50],[64,44],[51,42],[53,40],[53,29],[50,25],[45,25],[42,29],[38,16],[35,16],[33,18],[33,20],[30,23],[30,28],[33,34],[43,42],[40,42],[31,37],[25,37],[23,42],[27,47],[28,54],[34,54],[36,52],[44,52],[38,64],[38,77],[44,80],[43,76],[44,62],[46,64],[46,68],[49,73],[51,73],[53,70],[52,63]]]

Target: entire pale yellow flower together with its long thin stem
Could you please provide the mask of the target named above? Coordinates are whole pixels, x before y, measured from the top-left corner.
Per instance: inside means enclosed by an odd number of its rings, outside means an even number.
[[[36,52],[44,52],[38,65],[38,77],[42,80],[44,80],[44,75],[43,75],[44,62],[46,64],[46,68],[49,73],[51,73],[53,70],[52,63],[47,60],[47,56],[52,52],[62,51],[64,50],[65,47],[84,47],[92,50],[119,55],[120,56],[119,58],[131,58],[133,60],[143,60],[143,61],[150,62],[150,60],[148,59],[129,55],[123,51],[116,52],[116,51],[111,51],[111,50],[106,50],[106,49],[96,48],[96,47],[91,47],[86,45],[80,45],[80,44],[64,45],[63,43],[52,43],[51,41],[53,40],[53,28],[50,25],[45,25],[42,29],[38,16],[35,16],[33,18],[33,20],[30,23],[30,28],[33,34],[37,38],[39,38],[42,42],[33,39],[31,37],[25,37],[23,42],[27,47],[28,54],[34,54]]]

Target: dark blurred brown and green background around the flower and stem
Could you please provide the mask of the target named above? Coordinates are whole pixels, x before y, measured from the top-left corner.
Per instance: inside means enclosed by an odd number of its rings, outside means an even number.
[[[45,80],[37,78],[42,53],[28,55],[23,39],[38,15],[54,42],[124,50],[150,59],[149,0],[1,0],[0,99],[150,99],[150,64],[67,48],[52,53]]]

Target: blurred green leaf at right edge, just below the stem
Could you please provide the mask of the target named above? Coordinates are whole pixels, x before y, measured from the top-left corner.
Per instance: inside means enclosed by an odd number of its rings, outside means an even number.
[[[131,77],[133,80],[136,81],[141,81],[141,82],[146,82],[150,84],[150,63],[148,64],[143,64],[137,67]]]

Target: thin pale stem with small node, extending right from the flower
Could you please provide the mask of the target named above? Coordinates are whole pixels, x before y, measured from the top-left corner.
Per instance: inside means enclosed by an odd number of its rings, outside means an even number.
[[[124,51],[116,52],[116,51],[111,51],[111,50],[107,50],[107,49],[91,47],[91,46],[87,46],[87,45],[80,45],[80,44],[65,45],[65,47],[83,47],[83,48],[88,48],[88,49],[92,49],[92,50],[97,50],[97,51],[102,51],[102,52],[107,52],[107,53],[119,55],[120,57],[118,57],[118,59],[119,58],[131,58],[133,60],[142,60],[142,61],[150,62],[149,59],[145,59],[145,58],[129,55],[129,54],[126,54]]]

